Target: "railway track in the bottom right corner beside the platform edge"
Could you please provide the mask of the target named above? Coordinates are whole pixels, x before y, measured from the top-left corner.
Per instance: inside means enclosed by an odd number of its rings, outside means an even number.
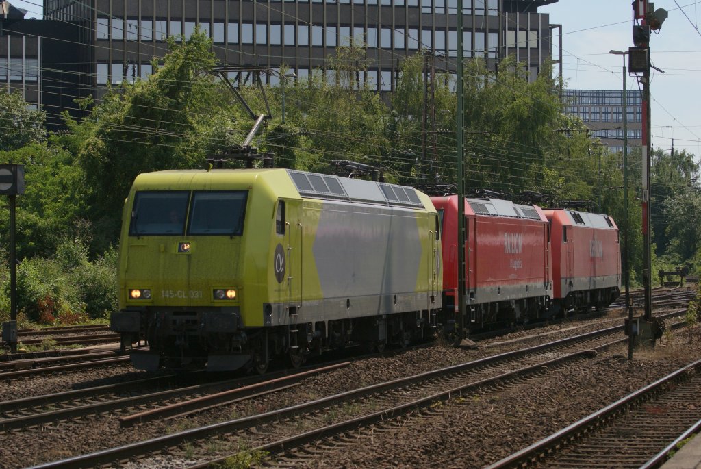
[[[701,427],[701,360],[512,454],[488,469],[656,468]]]

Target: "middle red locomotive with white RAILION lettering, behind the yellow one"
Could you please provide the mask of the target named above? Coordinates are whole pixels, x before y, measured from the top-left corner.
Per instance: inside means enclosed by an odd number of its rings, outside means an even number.
[[[458,197],[432,197],[442,217],[444,326],[451,329],[458,287]],[[465,199],[465,303],[470,331],[549,314],[548,224],[536,205]]]

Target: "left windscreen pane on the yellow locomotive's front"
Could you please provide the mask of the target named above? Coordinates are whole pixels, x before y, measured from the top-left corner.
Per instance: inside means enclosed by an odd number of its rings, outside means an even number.
[[[134,198],[129,236],[182,235],[188,191],[139,191]]]

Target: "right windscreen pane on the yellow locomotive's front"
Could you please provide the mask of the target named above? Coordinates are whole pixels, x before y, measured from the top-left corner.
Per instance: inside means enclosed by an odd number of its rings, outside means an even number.
[[[189,235],[243,234],[248,191],[194,191]]]

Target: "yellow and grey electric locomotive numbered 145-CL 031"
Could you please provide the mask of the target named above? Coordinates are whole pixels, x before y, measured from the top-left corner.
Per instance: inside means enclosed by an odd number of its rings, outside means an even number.
[[[411,187],[285,169],[139,175],[119,252],[121,333],[139,369],[253,367],[273,356],[427,334],[440,309],[438,215]]]

